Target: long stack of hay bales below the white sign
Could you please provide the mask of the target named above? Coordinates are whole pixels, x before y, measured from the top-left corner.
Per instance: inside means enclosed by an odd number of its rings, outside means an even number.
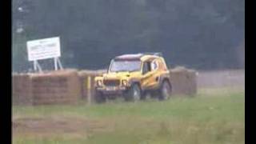
[[[12,84],[13,104],[75,103],[81,96],[77,70],[13,74]]]

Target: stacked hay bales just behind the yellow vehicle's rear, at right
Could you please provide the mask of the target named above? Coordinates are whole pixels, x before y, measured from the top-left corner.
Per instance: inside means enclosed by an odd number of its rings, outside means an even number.
[[[197,93],[197,73],[178,66],[170,70],[172,93],[177,95],[194,95]]]

